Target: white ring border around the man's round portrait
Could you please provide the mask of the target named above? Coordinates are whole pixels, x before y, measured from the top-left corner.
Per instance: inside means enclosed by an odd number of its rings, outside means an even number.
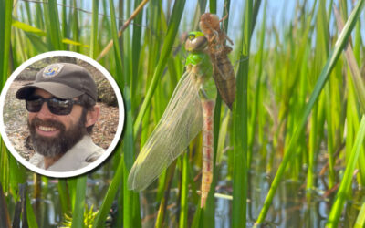
[[[5,103],[5,97],[7,94],[7,90],[10,88],[10,85],[13,83],[13,81],[16,79],[16,77],[29,65],[34,64],[36,61],[47,58],[47,57],[75,57],[78,59],[81,59],[85,62],[88,62],[92,66],[96,67],[110,82],[111,87],[114,90],[114,93],[118,100],[119,105],[119,122],[118,122],[118,128],[117,132],[114,135],[114,139],[111,141],[110,146],[108,150],[106,150],[97,161],[93,161],[88,166],[78,169],[76,171],[47,171],[41,168],[36,167],[35,165],[31,164],[29,161],[26,161],[13,147],[10,140],[7,138],[7,134],[5,132],[5,125],[4,125],[4,118],[3,118],[3,111],[4,111],[4,103]],[[124,104],[123,99],[121,97],[120,88],[118,87],[117,83],[115,82],[114,78],[110,75],[108,70],[106,70],[104,67],[102,67],[97,61],[94,59],[84,56],[82,54],[72,52],[72,51],[51,51],[42,53],[40,55],[37,55],[36,57],[31,57],[26,62],[24,62],[21,66],[17,67],[16,70],[11,74],[10,78],[6,80],[5,86],[3,90],[1,91],[0,95],[0,133],[3,137],[3,140],[5,142],[5,145],[8,150],[13,154],[13,156],[16,158],[17,161],[22,163],[26,168],[28,168],[31,171],[35,171],[39,174],[49,176],[49,177],[55,177],[55,178],[68,178],[68,177],[74,177],[81,174],[84,174],[88,171],[91,171],[92,169],[99,166],[99,164],[103,161],[105,161],[109,156],[110,153],[114,150],[114,148],[117,146],[118,141],[120,140],[121,131],[123,130],[124,125]]]

